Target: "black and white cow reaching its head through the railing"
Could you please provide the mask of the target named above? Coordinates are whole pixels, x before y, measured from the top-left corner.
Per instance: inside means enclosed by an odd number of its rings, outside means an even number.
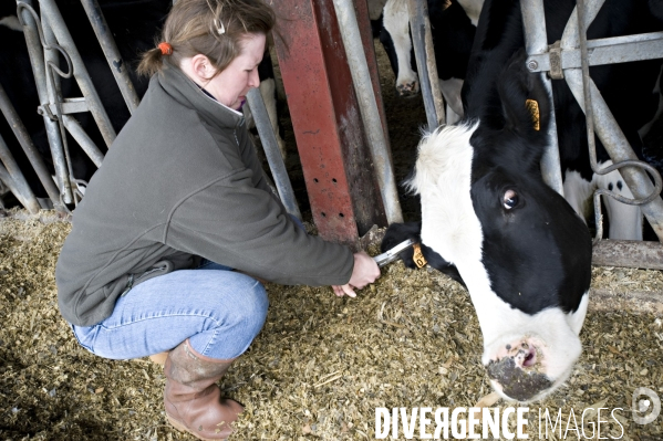
[[[574,3],[545,3],[549,43],[561,38]],[[589,38],[656,27],[646,1],[608,0]],[[423,138],[408,181],[421,196],[422,222],[391,225],[382,248],[421,240],[431,266],[467,287],[493,387],[505,398],[531,401],[559,387],[581,354],[591,239],[573,208],[541,179],[550,99],[538,74],[527,73],[522,48],[519,2],[486,1],[463,88],[465,118]],[[624,105],[615,117],[636,149],[633,134],[655,112],[649,104],[649,113],[641,109],[657,69],[655,62],[591,69],[611,108]],[[563,81],[553,87],[562,167],[570,169],[587,160],[584,120]],[[527,99],[538,102],[539,130]],[[412,255],[401,253],[415,267]]]

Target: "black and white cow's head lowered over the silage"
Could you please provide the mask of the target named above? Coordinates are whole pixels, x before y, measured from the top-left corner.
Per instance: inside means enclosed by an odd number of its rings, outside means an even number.
[[[469,291],[493,387],[531,401],[564,381],[580,356],[591,238],[541,179],[550,99],[540,78],[525,72],[522,56],[498,78],[472,119],[422,139],[408,185],[421,195],[422,242]],[[527,99],[538,103],[538,130]]]

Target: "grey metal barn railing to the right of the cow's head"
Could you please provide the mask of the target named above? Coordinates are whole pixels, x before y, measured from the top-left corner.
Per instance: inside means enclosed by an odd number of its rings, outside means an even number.
[[[521,1],[529,55],[526,63],[530,72],[541,72],[545,78],[546,73],[548,73],[551,78],[566,80],[573,96],[586,113],[588,144],[593,171],[604,175],[620,169],[620,174],[629,189],[635,196],[635,199],[626,199],[612,191],[597,190],[594,195],[597,218],[594,263],[663,269],[663,260],[661,259],[663,245],[661,243],[601,239],[603,231],[601,195],[610,196],[622,203],[640,206],[659,240],[663,239],[663,200],[659,197],[662,187],[661,176],[655,168],[638,159],[589,75],[589,66],[591,65],[663,59],[663,32],[588,41],[587,29],[603,2],[604,0],[578,0],[561,41],[548,46],[545,25],[541,25],[546,22],[543,0]],[[591,50],[591,55],[589,50]],[[612,158],[613,165],[610,167],[598,168],[594,133]],[[552,138],[557,139],[557,134]],[[543,176],[555,177],[548,182],[551,183],[552,188],[560,191],[561,180],[558,181],[558,179],[561,179],[561,170],[558,146],[551,146],[550,150],[556,151],[550,153],[549,158],[557,159],[545,160],[541,167]],[[648,172],[654,179],[654,183],[652,183]],[[610,255],[615,255],[617,250],[628,258],[621,259],[620,262],[610,259]]]

